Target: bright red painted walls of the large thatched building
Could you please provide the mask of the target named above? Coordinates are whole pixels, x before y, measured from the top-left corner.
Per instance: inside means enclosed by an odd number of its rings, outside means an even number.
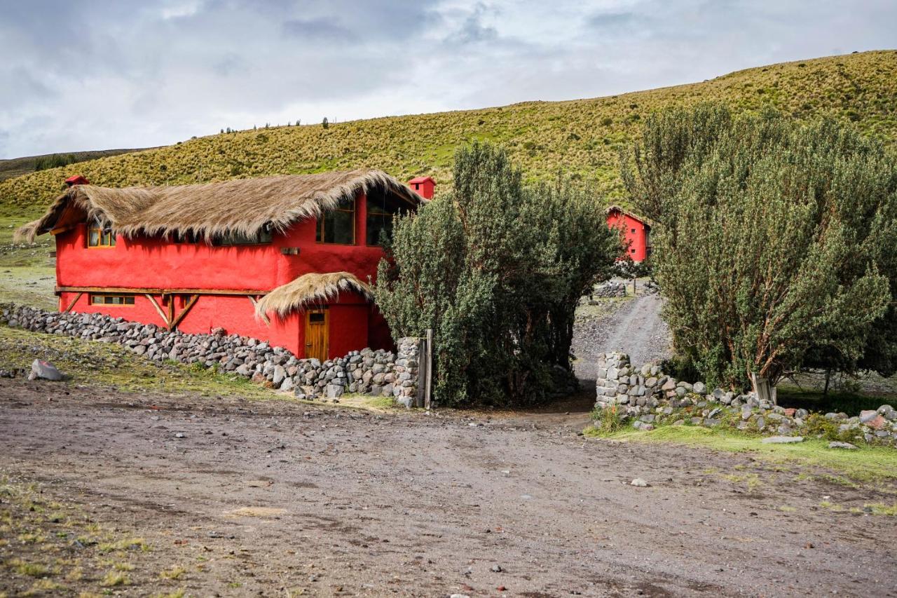
[[[208,289],[257,291],[262,294],[309,272],[351,272],[361,280],[377,276],[383,257],[379,247],[368,247],[365,197],[356,199],[355,245],[318,243],[314,218],[293,224],[285,233],[274,233],[270,244],[214,247],[200,243],[174,243],[163,238],[118,235],[115,247],[88,248],[87,226],[57,234],[57,286],[98,286],[115,288]],[[298,247],[299,255],[283,255],[282,248]],[[63,292],[59,309],[65,310],[77,294]],[[174,295],[175,315],[189,297]],[[168,304],[155,295],[164,312]],[[344,356],[363,347],[391,348],[388,326],[376,308],[363,297],[342,293],[330,305],[330,357]],[[85,293],[72,312],[100,312],[130,321],[164,326],[149,299],[135,295],[134,305],[94,305]],[[207,334],[221,327],[239,334],[269,341],[294,355],[305,356],[305,313],[293,312],[286,318],[269,314],[270,324],[258,321],[246,295],[201,295],[179,323],[179,330]],[[371,334],[369,334],[369,330]]]

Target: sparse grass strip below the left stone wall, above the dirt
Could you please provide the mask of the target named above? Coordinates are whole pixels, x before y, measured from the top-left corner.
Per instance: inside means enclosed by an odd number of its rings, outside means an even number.
[[[247,399],[283,397],[239,376],[173,362],[159,365],[111,343],[0,326],[0,364],[30,369],[37,357],[56,365],[71,376],[69,383],[74,384],[205,397],[231,394]]]

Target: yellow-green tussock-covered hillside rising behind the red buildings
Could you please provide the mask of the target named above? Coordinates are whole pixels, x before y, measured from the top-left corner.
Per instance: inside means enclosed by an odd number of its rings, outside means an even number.
[[[640,120],[654,110],[697,101],[726,101],[743,110],[769,105],[798,118],[832,115],[893,144],[897,51],[762,66],[699,84],[592,100],[206,136],[5,180],[0,216],[24,220],[39,214],[75,172],[95,184],[120,187],[369,166],[402,179],[430,174],[446,189],[455,148],[472,139],[507,145],[530,179],[550,178],[560,169],[613,197],[621,191],[617,152],[637,133]]]

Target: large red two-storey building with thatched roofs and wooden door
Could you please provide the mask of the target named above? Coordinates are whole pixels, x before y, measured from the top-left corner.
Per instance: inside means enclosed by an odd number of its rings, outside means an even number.
[[[392,215],[423,198],[380,171],[107,189],[74,184],[19,235],[51,233],[64,312],[223,328],[324,360],[392,339],[371,303]]]

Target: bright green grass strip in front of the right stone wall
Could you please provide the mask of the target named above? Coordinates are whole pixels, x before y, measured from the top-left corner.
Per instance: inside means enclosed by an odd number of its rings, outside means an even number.
[[[828,448],[827,441],[815,439],[797,444],[762,444],[760,437],[697,426],[662,426],[649,432],[626,428],[609,434],[597,433],[592,428],[587,435],[633,443],[687,444],[729,453],[751,453],[763,461],[823,467],[860,481],[897,480],[897,450],[893,448],[861,446],[857,451],[836,451]]]

